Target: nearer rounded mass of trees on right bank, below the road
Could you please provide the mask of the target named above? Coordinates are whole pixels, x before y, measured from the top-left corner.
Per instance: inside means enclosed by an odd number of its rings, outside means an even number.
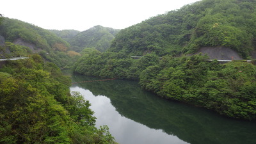
[[[165,56],[158,66],[141,72],[140,84],[161,97],[256,120],[255,76],[256,67],[246,62],[221,65],[207,56]]]

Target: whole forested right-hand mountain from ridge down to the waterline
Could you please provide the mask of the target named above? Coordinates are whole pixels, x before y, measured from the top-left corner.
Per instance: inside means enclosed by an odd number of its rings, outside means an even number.
[[[256,46],[255,6],[254,0],[202,0],[152,17],[120,30],[107,52],[82,51],[74,72],[138,79],[161,97],[256,120],[255,61],[220,64],[202,54],[177,57],[221,46],[250,58]]]

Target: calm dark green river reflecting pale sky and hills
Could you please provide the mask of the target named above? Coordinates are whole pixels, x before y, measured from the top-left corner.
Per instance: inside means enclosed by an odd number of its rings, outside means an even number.
[[[73,82],[100,79],[80,75]],[[97,81],[70,87],[80,92],[120,144],[255,144],[256,122],[226,118],[212,111],[157,97],[136,81]]]

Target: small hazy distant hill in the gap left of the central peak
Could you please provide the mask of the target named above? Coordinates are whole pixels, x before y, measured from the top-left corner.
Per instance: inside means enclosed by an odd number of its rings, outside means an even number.
[[[52,31],[57,36],[61,37],[63,40],[66,40],[67,42],[70,42],[70,40],[72,40],[72,38],[74,38],[74,36],[76,36],[77,33],[80,33],[80,31],[76,31],[74,29],[65,29],[61,31],[51,29],[49,31]]]

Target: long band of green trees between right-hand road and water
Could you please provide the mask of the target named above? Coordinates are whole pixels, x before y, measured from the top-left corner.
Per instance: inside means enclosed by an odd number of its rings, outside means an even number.
[[[116,52],[82,56],[74,72],[86,76],[138,80],[145,90],[167,99],[200,106],[221,115],[256,120],[256,66],[242,61],[220,64],[206,55],[146,54],[138,60]]]

